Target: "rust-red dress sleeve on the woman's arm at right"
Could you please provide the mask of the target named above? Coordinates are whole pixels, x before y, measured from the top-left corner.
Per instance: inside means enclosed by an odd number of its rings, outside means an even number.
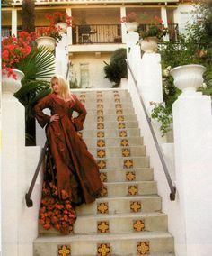
[[[80,102],[80,100],[74,95],[75,105],[74,110],[79,114],[77,117],[73,118],[73,123],[75,125],[76,131],[81,131],[84,129],[84,120],[87,114],[84,105]]]

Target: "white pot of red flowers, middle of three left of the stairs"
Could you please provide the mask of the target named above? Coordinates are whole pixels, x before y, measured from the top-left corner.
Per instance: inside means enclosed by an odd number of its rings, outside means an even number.
[[[41,27],[37,30],[37,39],[36,42],[38,47],[45,46],[50,51],[55,50],[56,43],[62,39],[60,33],[61,29],[54,25],[49,27]]]

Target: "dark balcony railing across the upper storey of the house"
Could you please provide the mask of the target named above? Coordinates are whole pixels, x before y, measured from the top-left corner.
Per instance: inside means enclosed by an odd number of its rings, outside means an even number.
[[[146,31],[149,24],[140,24],[139,31]],[[39,27],[37,27],[39,28]],[[36,29],[37,29],[36,28]],[[168,24],[170,41],[178,39],[178,24]],[[18,27],[18,31],[21,28]],[[2,27],[2,37],[11,34],[10,27]],[[121,43],[121,25],[120,24],[86,24],[76,25],[72,28],[73,44],[92,44],[92,43]]]

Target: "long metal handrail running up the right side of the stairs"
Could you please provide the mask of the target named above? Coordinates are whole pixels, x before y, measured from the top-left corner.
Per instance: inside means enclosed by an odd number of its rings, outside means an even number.
[[[175,200],[175,195],[176,195],[176,187],[173,186],[172,178],[171,178],[171,176],[170,176],[170,174],[169,174],[169,170],[168,170],[167,165],[166,165],[166,163],[165,163],[165,160],[164,160],[164,158],[163,158],[163,153],[162,153],[162,151],[161,151],[161,149],[160,149],[159,143],[158,143],[157,138],[156,138],[156,136],[155,136],[155,131],[154,131],[153,125],[152,125],[152,123],[151,123],[151,118],[149,118],[149,116],[148,116],[148,114],[147,114],[146,106],[145,106],[145,104],[144,104],[143,98],[142,98],[142,96],[141,96],[140,93],[139,93],[139,89],[138,89],[138,87],[137,87],[137,79],[135,78],[135,76],[134,76],[134,74],[133,74],[133,71],[132,71],[132,69],[131,69],[131,67],[130,67],[130,65],[129,65],[129,63],[128,63],[128,60],[126,60],[126,61],[127,61],[127,65],[128,65],[128,69],[129,69],[129,71],[130,71],[130,74],[131,74],[131,76],[132,76],[132,78],[133,78],[133,81],[134,81],[134,83],[135,83],[135,85],[136,85],[137,93],[138,93],[138,95],[139,95],[139,99],[140,99],[141,105],[142,105],[142,107],[143,107],[143,109],[144,109],[144,112],[145,112],[145,115],[146,115],[146,120],[147,120],[147,123],[148,123],[148,125],[149,125],[149,129],[150,129],[150,131],[151,131],[151,133],[152,133],[152,136],[153,136],[153,139],[154,139],[154,142],[155,142],[156,150],[157,150],[157,152],[158,152],[159,158],[160,158],[161,163],[162,163],[162,165],[163,165],[163,170],[164,170],[165,177],[166,177],[166,179],[167,179],[167,182],[168,182],[169,187],[170,187],[170,190],[171,190],[171,193],[170,193],[170,200],[171,200],[171,201],[174,201],[174,200]]]

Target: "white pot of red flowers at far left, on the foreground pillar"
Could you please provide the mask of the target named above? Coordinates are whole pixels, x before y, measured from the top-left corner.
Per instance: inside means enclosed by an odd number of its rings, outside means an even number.
[[[20,62],[31,53],[34,33],[19,32],[18,37],[9,36],[2,41],[2,87],[4,93],[15,93],[21,87],[24,74]]]

